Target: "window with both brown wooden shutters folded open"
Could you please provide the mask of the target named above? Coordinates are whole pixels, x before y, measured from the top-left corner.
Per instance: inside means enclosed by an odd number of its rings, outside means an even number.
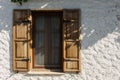
[[[14,10],[13,70],[80,71],[79,9]]]

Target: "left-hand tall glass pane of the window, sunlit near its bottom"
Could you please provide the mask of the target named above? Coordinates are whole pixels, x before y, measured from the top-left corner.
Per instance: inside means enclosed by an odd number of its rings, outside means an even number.
[[[44,65],[44,16],[35,20],[35,65]]]

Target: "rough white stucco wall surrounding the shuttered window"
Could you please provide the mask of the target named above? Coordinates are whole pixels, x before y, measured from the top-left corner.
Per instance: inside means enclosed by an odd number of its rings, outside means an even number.
[[[13,9],[80,8],[82,72],[61,76],[12,72]],[[120,0],[0,0],[0,80],[120,80]]]

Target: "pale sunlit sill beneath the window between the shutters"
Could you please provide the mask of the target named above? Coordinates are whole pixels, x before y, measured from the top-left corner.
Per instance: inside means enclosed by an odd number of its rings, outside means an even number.
[[[60,71],[50,71],[50,70],[31,70],[28,72],[29,75],[63,75],[65,73]]]

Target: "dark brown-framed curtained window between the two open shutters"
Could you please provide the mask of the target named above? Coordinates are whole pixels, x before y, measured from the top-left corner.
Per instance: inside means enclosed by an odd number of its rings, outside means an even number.
[[[33,11],[33,68],[62,67],[62,13]]]

